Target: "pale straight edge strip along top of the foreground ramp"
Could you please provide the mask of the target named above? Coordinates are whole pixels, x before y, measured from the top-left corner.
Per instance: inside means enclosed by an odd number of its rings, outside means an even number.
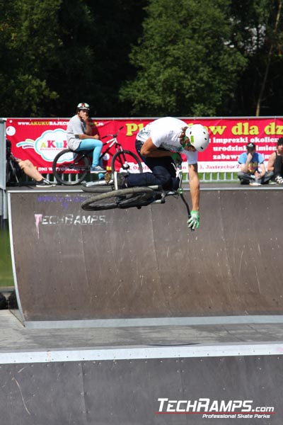
[[[192,358],[227,356],[282,356],[283,342],[231,343],[212,345],[119,346],[110,348],[80,348],[0,353],[0,364],[54,363],[71,361],[144,361],[153,358]]]

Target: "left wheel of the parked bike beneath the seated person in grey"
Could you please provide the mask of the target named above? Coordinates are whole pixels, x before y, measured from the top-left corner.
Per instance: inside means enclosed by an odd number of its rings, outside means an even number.
[[[69,159],[73,154],[73,159]],[[66,157],[64,160],[63,157]],[[54,157],[52,171],[58,183],[74,186],[81,183],[90,170],[90,163],[86,153],[74,152],[71,149],[64,149]],[[74,172],[75,171],[75,172]]]

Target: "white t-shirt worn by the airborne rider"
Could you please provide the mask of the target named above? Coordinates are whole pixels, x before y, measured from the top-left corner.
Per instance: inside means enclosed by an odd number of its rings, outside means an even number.
[[[163,147],[163,149],[170,152],[185,154],[188,164],[196,164],[197,152],[188,152],[180,145],[180,133],[183,127],[187,127],[187,123],[178,118],[158,118],[158,120],[152,121],[138,132],[137,140],[144,144],[151,137],[156,147]]]

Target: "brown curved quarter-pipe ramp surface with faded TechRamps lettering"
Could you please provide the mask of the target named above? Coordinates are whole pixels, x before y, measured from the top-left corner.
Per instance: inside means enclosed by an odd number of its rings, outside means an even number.
[[[86,212],[86,196],[57,188],[8,193],[25,324],[282,314],[281,188],[202,189],[195,232],[175,198]]]

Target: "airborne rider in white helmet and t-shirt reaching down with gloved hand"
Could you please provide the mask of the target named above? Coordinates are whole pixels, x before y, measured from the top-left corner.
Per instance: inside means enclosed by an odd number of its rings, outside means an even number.
[[[200,179],[197,174],[197,153],[209,145],[209,134],[201,124],[187,125],[178,118],[165,117],[152,121],[137,134],[136,149],[152,173],[114,173],[115,189],[134,186],[162,186],[165,190],[177,190],[172,154],[185,154],[189,166],[190,196],[192,210],[188,227],[200,227]]]

